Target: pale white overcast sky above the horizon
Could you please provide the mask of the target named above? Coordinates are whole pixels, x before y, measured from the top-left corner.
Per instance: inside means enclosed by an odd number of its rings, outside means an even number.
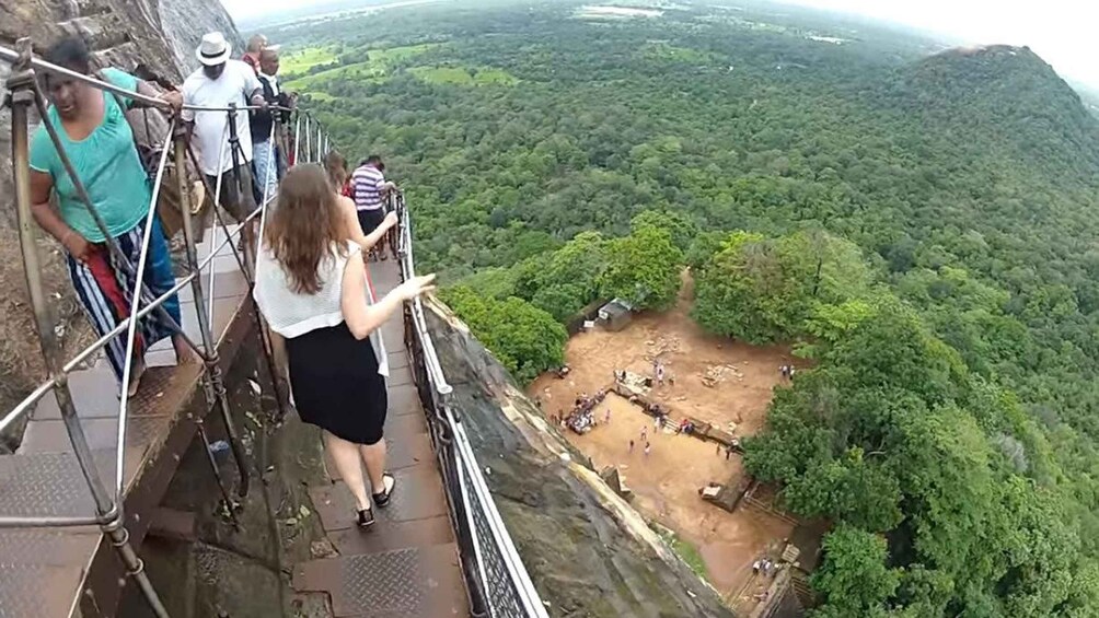
[[[235,19],[248,19],[323,0],[222,1]],[[1062,77],[1099,90],[1099,2],[1096,0],[781,1],[897,22],[969,44],[1029,45]],[[735,3],[735,0],[724,2]],[[593,3],[611,3],[611,0],[593,0]]]

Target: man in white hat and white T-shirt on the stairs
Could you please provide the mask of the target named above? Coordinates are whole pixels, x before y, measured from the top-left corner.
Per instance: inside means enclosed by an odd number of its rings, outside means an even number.
[[[203,36],[195,55],[202,68],[184,81],[186,104],[221,109],[267,104],[263,86],[252,67],[230,59],[233,48],[222,33],[212,32]],[[234,150],[230,148],[230,133],[226,132],[229,112],[184,110],[182,117],[198,139],[202,173],[210,180],[211,187],[217,187],[219,176],[223,177],[221,204],[233,218],[243,221],[256,210],[252,193],[252,128],[247,110],[236,112],[234,124],[240,147],[235,150],[235,161]],[[252,226],[245,228],[245,236],[254,246]]]

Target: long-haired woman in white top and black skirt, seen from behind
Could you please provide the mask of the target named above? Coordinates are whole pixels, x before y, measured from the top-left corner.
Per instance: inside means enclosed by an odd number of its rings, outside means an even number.
[[[385,507],[396,485],[386,472],[389,367],[379,329],[402,303],[431,291],[434,276],[412,278],[371,304],[362,247],[320,166],[287,172],[269,217],[254,295],[279,335],[280,357],[285,347],[298,413],[324,430],[325,448],[355,496],[358,526],[368,528],[370,497]]]

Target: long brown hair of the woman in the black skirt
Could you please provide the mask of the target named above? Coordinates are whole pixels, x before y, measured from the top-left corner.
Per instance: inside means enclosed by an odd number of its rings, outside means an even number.
[[[300,165],[279,186],[278,205],[269,214],[264,241],[299,294],[321,291],[318,269],[333,249],[347,255],[347,231],[336,194],[321,166]]]

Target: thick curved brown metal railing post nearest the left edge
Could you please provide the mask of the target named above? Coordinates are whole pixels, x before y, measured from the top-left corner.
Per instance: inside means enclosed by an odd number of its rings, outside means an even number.
[[[34,241],[33,214],[31,211],[31,167],[30,167],[30,126],[27,123],[27,110],[36,102],[34,90],[34,72],[30,68],[31,43],[29,38],[20,41],[20,61],[15,66],[14,75],[9,77],[7,87],[11,90],[12,110],[12,168],[15,180],[15,213],[19,222],[19,240],[23,252],[23,269],[26,274],[27,292],[31,296],[31,306],[34,308],[35,325],[38,329],[38,344],[42,348],[42,356],[54,381],[54,394],[57,397],[57,406],[60,408],[62,422],[68,432],[69,441],[73,445],[73,453],[76,456],[80,472],[88,483],[88,491],[96,503],[96,512],[106,523],[100,525],[100,529],[111,542],[111,546],[119,553],[119,558],[125,565],[126,574],[134,577],[141,587],[149,608],[158,618],[168,618],[168,611],[153,589],[145,573],[145,565],[134,552],[130,544],[130,532],[123,521],[121,505],[114,503],[110,492],[99,476],[99,469],[91,454],[91,447],[88,446],[88,438],[80,426],[80,418],[76,414],[73,404],[73,396],[68,390],[68,379],[64,373],[60,362],[60,347],[54,334],[49,312],[46,305],[45,293],[42,289],[41,269],[38,265],[37,246]],[[135,290],[134,302],[137,302],[140,293]],[[123,423],[123,419],[119,419]],[[122,445],[119,445],[122,448]]]

